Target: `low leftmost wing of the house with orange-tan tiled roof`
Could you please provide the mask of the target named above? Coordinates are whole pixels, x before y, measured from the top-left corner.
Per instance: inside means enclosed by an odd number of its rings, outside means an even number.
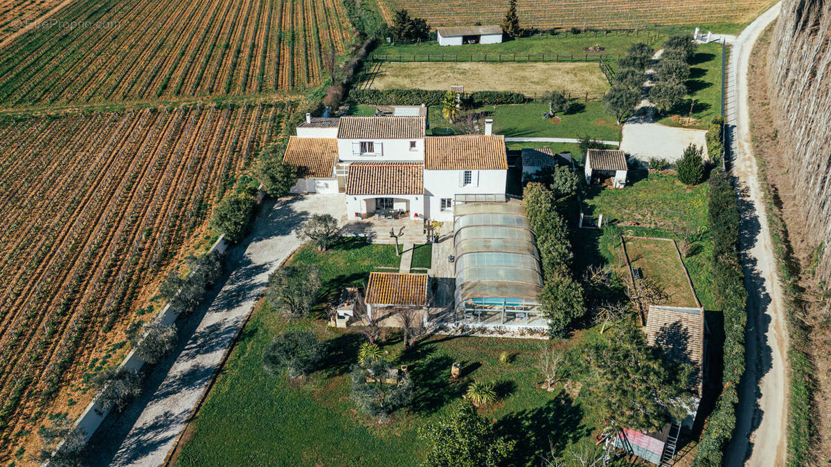
[[[283,161],[300,170],[292,193],[337,193],[337,140],[290,136]]]

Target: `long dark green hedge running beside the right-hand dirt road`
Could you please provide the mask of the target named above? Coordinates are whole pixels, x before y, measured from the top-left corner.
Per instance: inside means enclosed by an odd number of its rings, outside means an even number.
[[[730,179],[721,170],[710,177],[708,207],[713,237],[713,275],[724,315],[724,369],[721,395],[715,402],[698,455],[692,465],[723,465],[724,449],[735,430],[739,382],[745,373],[745,325],[747,291],[739,259],[739,208]]]

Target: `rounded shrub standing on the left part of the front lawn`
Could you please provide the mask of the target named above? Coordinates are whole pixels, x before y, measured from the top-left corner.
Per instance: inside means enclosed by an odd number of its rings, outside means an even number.
[[[272,375],[286,371],[290,378],[307,375],[317,369],[327,350],[312,332],[287,331],[274,337],[263,354],[263,368]]]

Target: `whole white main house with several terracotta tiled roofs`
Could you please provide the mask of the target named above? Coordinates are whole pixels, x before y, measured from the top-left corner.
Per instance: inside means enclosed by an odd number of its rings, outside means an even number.
[[[312,118],[297,126],[284,160],[301,170],[293,193],[344,193],[347,219],[372,215],[452,221],[456,203],[504,199],[505,140],[427,136],[425,116]]]

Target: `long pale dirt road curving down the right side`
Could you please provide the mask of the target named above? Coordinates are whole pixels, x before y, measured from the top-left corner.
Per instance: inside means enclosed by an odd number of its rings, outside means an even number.
[[[736,38],[730,53],[728,135],[740,191],[741,250],[748,291],[745,362],[736,429],[725,465],[785,465],[788,330],[783,292],[770,239],[764,194],[753,156],[747,72],[756,39],[779,15],[779,3]]]

